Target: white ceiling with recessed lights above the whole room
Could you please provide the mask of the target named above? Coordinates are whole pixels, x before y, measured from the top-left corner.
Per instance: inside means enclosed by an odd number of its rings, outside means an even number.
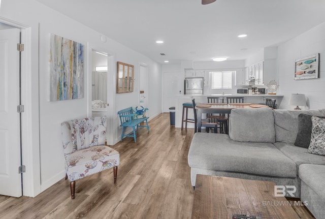
[[[161,64],[245,59],[325,21],[325,0],[37,1]]]

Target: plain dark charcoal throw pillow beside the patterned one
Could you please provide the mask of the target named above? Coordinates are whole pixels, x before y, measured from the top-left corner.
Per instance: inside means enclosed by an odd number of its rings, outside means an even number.
[[[310,136],[311,136],[311,117],[312,115],[307,114],[299,114],[298,120],[298,134],[295,141],[295,145],[298,147],[308,148],[310,144]],[[325,118],[323,116],[317,116],[318,118]]]

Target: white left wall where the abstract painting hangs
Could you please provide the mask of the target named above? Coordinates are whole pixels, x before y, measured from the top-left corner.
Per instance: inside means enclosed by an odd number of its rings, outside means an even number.
[[[26,10],[28,9],[28,10]],[[32,9],[32,10],[31,10]],[[35,196],[46,190],[59,179],[63,178],[64,165],[62,154],[62,143],[60,136],[60,123],[65,120],[86,117],[91,115],[91,50],[107,52],[115,57],[115,61],[122,61],[135,66],[134,92],[115,94],[116,90],[116,67],[111,72],[111,87],[114,95],[111,97],[114,142],[119,140],[117,111],[139,103],[139,64],[146,63],[149,75],[149,111],[148,116],[154,116],[161,112],[161,66],[144,55],[131,50],[106,37],[107,41],[101,41],[101,33],[86,27],[60,13],[57,13],[34,0],[2,0],[0,16],[22,23],[30,27],[30,93],[31,103],[26,103],[29,109],[35,111],[30,113],[32,123],[32,135],[35,140],[33,144],[23,147],[23,150],[32,149],[40,151],[39,156],[34,154],[34,161],[40,159],[40,168],[33,170],[36,177],[34,180],[34,192],[29,196]],[[67,100],[49,102],[49,36],[56,34],[84,44],[84,98],[79,100]],[[116,62],[115,62],[116,63]],[[39,111],[38,111],[39,109]],[[28,110],[28,109],[27,109]],[[38,122],[39,121],[39,122]],[[38,131],[40,130],[40,131]],[[39,136],[39,144],[36,140]],[[39,158],[38,158],[39,157]],[[30,167],[26,167],[28,170]],[[41,182],[37,182],[40,174]],[[35,182],[36,181],[36,182]]]

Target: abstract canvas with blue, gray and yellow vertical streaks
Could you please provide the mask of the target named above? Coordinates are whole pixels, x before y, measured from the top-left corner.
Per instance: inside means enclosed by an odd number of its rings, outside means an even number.
[[[83,50],[81,43],[51,34],[50,101],[83,98]]]

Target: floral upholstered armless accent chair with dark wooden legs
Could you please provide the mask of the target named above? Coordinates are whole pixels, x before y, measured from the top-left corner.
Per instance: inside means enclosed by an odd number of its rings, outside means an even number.
[[[105,145],[106,117],[74,119],[61,123],[66,179],[70,181],[71,199],[75,198],[76,180],[114,169],[116,183],[120,154]]]

